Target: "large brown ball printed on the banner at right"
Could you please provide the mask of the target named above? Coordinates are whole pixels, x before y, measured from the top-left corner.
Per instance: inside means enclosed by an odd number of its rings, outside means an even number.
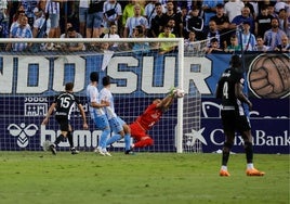
[[[290,91],[290,63],[287,54],[261,54],[248,72],[251,91],[258,98],[284,98]]]

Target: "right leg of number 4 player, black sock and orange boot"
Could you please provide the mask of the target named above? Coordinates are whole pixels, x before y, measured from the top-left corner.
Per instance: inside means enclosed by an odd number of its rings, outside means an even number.
[[[252,133],[248,117],[243,116],[239,118],[239,131],[243,140],[243,149],[247,160],[247,170],[248,176],[264,176],[265,173],[260,171],[254,168],[253,165],[253,144],[252,144]]]

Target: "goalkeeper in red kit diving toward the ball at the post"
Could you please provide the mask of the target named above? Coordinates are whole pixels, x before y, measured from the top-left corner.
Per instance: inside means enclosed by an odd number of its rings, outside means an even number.
[[[177,89],[173,88],[162,100],[155,99],[153,103],[149,104],[132,124],[130,124],[131,137],[134,139],[134,143],[131,145],[131,151],[134,148],[144,148],[154,144],[154,140],[147,135],[147,131],[151,129],[151,127],[159,122],[162,114],[168,111],[176,98],[176,92]],[[130,151],[127,153],[130,153]]]

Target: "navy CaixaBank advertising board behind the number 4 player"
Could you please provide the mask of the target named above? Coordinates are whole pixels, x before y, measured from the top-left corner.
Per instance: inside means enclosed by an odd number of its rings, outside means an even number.
[[[258,100],[259,106],[250,112],[251,132],[253,145],[259,153],[289,153],[289,113],[276,109],[265,111],[273,101]],[[276,99],[276,105],[284,107],[288,104],[287,99]],[[256,103],[255,103],[256,104]],[[189,132],[192,138],[200,138],[203,152],[215,152],[222,149],[224,143],[224,131],[220,116],[220,104],[216,100],[203,100],[201,109],[201,128]],[[194,137],[195,136],[195,137]],[[187,137],[187,136],[185,136]],[[196,139],[197,141],[198,139]],[[240,132],[236,132],[234,149],[242,152],[243,140]]]

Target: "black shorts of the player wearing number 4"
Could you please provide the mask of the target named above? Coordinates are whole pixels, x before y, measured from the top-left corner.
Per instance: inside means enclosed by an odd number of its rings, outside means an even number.
[[[236,111],[221,111],[222,123],[225,131],[247,131],[251,129],[249,118],[240,116]]]

